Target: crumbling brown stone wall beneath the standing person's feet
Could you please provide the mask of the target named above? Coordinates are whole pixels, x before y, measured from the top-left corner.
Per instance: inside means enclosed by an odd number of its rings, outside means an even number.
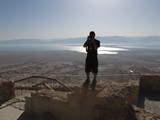
[[[25,111],[34,115],[50,112],[57,120],[126,120],[129,105],[137,97],[137,85],[106,82],[97,90],[76,87],[72,93],[34,93],[27,98]]]

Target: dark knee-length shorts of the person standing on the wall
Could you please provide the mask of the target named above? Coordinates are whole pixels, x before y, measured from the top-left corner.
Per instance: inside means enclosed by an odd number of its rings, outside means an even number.
[[[85,72],[98,73],[98,58],[97,56],[87,56]]]

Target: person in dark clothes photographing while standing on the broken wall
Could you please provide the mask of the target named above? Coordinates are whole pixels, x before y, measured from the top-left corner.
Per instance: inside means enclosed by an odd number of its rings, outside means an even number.
[[[95,39],[95,32],[91,31],[89,36],[87,37],[86,42],[84,43],[83,47],[86,48],[87,57],[85,63],[85,72],[87,79],[83,83],[83,87],[88,88],[90,84],[90,72],[93,73],[94,79],[90,87],[95,89],[97,83],[97,73],[98,73],[98,53],[97,49],[100,47],[100,41]]]

